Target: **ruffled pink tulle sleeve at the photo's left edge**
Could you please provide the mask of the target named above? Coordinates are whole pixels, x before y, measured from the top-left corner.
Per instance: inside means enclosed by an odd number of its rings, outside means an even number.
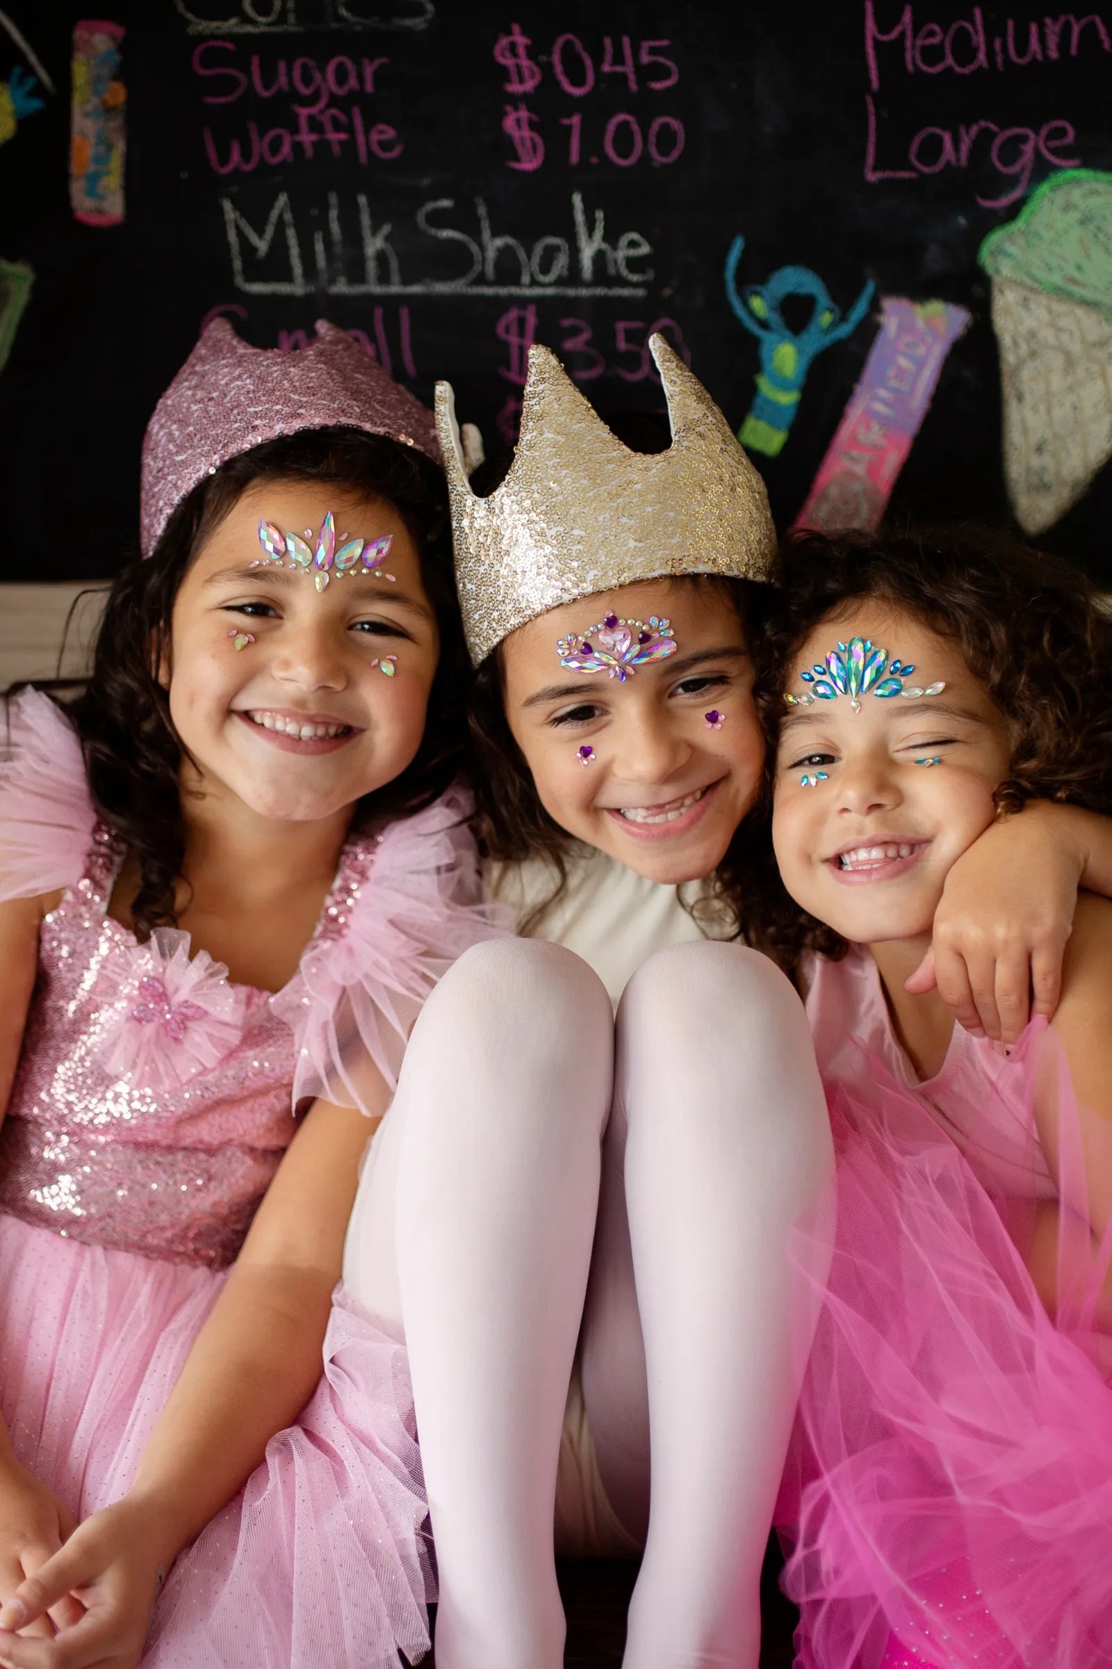
[[[97,813],[65,713],[38,689],[0,709],[0,903],[80,881]]]

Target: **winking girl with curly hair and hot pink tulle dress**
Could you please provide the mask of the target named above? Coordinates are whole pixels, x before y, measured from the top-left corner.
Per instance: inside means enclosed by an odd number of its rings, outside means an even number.
[[[765,639],[762,890],[830,1102],[839,1223],[780,1522],[809,1669],[1070,1669],[1112,1639],[1112,903],[1014,1046],[907,981],[1034,801],[1112,811],[1112,619],[975,531],[799,541]]]

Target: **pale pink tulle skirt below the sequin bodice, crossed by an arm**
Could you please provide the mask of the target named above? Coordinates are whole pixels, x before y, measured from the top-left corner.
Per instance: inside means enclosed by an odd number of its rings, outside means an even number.
[[[0,1217],[0,1410],[77,1517],[118,1500],[223,1275]],[[178,1557],[143,1669],[397,1669],[433,1592],[405,1350],[337,1290],[297,1425]]]

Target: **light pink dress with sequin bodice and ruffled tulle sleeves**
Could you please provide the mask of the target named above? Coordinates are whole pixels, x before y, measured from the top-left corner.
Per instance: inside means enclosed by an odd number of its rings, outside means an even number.
[[[3,741],[0,731],[0,741]],[[462,796],[352,838],[298,973],[233,985],[188,936],[107,916],[122,856],[45,696],[8,709],[0,896],[63,888],[0,1127],[0,1409],[85,1517],[147,1437],[288,1145],[293,1108],[393,1082],[450,961],[490,933]],[[427,1507],[405,1350],[337,1288],[297,1425],[173,1566],[145,1669],[397,1669],[428,1651]]]

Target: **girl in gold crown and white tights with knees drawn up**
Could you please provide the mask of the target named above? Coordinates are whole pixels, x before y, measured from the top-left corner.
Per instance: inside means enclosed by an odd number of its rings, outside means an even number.
[[[347,1242],[408,1345],[440,1669],[555,1669],[553,1544],[644,1549],[627,1669],[755,1669],[832,1233],[804,1008],[772,961],[707,941],[745,935],[759,873],[749,633],[775,534],[722,414],[652,350],[667,452],[632,454],[533,347],[487,497],[437,391],[480,829],[533,935],[468,951],[425,1005]],[[997,1033],[994,978],[1004,1006],[1034,960],[1045,990],[1085,868],[1045,811],[982,836],[935,923],[940,985],[979,1025],[972,985]]]

